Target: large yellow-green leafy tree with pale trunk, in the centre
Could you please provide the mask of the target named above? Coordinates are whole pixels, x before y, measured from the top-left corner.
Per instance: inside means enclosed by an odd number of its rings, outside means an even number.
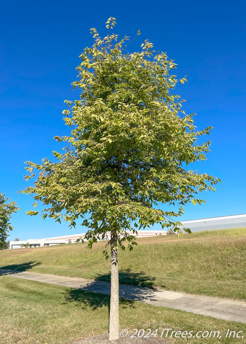
[[[172,93],[178,82],[169,74],[176,68],[174,61],[162,52],[154,56],[148,40],[141,52],[128,53],[129,37],[118,42],[118,35],[111,32],[115,18],[106,24],[104,38],[91,29],[94,44],[80,56],[79,79],[73,83],[81,89],[80,99],[65,100],[68,108],[63,115],[71,135],[55,137],[66,144],[64,152],[53,151],[56,162],[47,158],[42,164],[27,162],[30,174],[25,178],[35,176],[33,169],[39,175],[23,192],[33,196],[34,207],[38,201],[46,205],[43,219],[64,219],[72,227],[82,222],[88,228],[89,247],[99,234],[107,239],[110,232],[109,339],[115,340],[119,338],[117,250],[124,250],[125,243],[132,250],[136,244],[128,230],[136,233],[158,223],[179,231],[180,223],[172,218],[183,214],[189,202],[201,204],[196,194],[215,190],[219,179],[187,169],[206,159],[210,142],[196,141],[211,127],[196,131],[192,115],[182,109],[184,100]],[[166,210],[159,208],[160,203]],[[107,249],[104,255],[108,257]]]

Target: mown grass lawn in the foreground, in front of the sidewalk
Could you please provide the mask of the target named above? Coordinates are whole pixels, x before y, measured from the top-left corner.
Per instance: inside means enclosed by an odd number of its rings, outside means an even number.
[[[67,344],[70,340],[108,331],[109,296],[77,289],[0,276],[0,343]],[[190,338],[190,344],[245,343],[224,338],[243,331],[246,324],[195,315],[182,311],[120,301],[120,328],[173,331],[220,331],[222,338]],[[242,335],[242,333],[241,333]],[[182,344],[184,339],[168,338]]]

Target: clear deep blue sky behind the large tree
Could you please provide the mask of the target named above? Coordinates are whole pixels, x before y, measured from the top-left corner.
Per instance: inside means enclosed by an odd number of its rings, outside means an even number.
[[[89,29],[106,34],[108,17],[117,19],[116,33],[141,35],[178,63],[177,88],[186,113],[196,113],[198,129],[212,125],[208,160],[193,167],[219,177],[207,203],[189,205],[183,220],[246,213],[246,2],[220,0],[82,1],[11,0],[0,14],[0,191],[17,201],[10,240],[42,238],[85,231],[52,220],[27,216],[31,197],[18,194],[28,186],[24,162],[52,158],[61,146],[53,140],[68,134],[63,124],[64,99],[78,98],[71,82],[86,46]],[[164,209],[164,206],[163,206]],[[182,220],[181,219],[181,220]]]

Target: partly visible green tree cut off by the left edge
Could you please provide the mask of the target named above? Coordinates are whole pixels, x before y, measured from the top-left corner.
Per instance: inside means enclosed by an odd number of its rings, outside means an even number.
[[[15,201],[8,201],[8,198],[4,197],[5,194],[0,193],[0,250],[6,247],[6,238],[8,237],[8,231],[13,227],[10,224],[11,214],[16,213],[20,208]]]

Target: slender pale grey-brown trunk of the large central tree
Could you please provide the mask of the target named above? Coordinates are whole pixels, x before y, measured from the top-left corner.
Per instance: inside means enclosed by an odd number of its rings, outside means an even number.
[[[111,296],[109,313],[109,340],[115,341],[119,335],[119,269],[117,257],[117,233],[111,232]]]

